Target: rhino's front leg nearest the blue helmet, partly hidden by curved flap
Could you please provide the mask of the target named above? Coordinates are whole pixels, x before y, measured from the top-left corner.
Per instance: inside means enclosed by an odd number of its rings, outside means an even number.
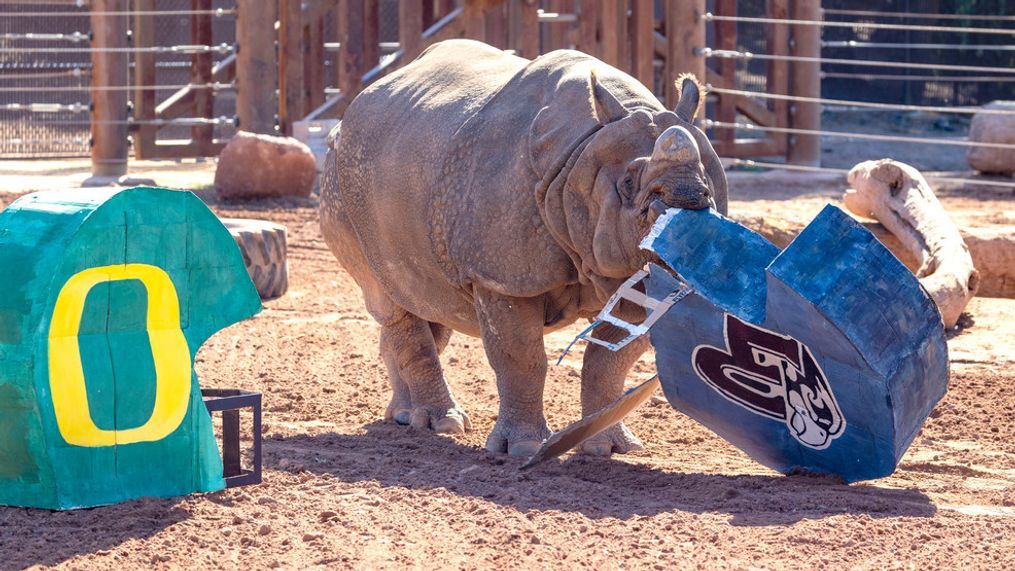
[[[610,343],[624,338],[627,332],[604,324],[594,336]],[[582,416],[587,417],[619,399],[624,391],[624,378],[631,365],[649,348],[649,338],[640,337],[620,351],[589,344],[582,362]],[[624,423],[617,423],[582,443],[581,451],[598,456],[613,452],[640,450],[644,446]]]

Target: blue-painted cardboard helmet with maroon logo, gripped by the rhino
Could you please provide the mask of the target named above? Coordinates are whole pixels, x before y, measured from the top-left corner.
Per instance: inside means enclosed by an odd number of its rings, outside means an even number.
[[[893,472],[948,382],[916,277],[833,206],[782,253],[712,211],[662,224],[647,245],[695,288],[650,332],[670,403],[784,473]],[[653,268],[650,295],[674,280]]]

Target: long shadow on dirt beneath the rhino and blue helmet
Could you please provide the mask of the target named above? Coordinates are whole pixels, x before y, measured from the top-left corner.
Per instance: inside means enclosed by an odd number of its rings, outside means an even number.
[[[573,511],[592,518],[626,519],[676,510],[726,513],[735,525],[779,525],[841,513],[926,517],[936,511],[916,490],[847,486],[811,476],[692,474],[585,456],[521,472],[521,459],[451,438],[384,422],[364,428],[366,433],[359,435],[269,438],[266,468],[330,474],[347,483],[444,488],[521,511]]]

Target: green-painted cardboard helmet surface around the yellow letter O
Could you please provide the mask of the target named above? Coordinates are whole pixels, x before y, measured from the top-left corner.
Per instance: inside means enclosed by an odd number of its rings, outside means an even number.
[[[189,358],[191,370],[189,398],[174,402],[186,413],[164,436],[120,441],[153,418],[151,339],[165,334],[147,330],[155,302],[140,279],[99,282],[80,310],[86,397],[73,405],[98,429],[121,432],[110,444],[72,443],[51,384],[54,308],[72,277],[125,265],[155,267],[172,282],[187,350],[171,361]],[[228,230],[197,197],[152,188],[23,197],[0,213],[0,504],[66,509],[224,486],[193,360],[208,337],[261,303]]]

